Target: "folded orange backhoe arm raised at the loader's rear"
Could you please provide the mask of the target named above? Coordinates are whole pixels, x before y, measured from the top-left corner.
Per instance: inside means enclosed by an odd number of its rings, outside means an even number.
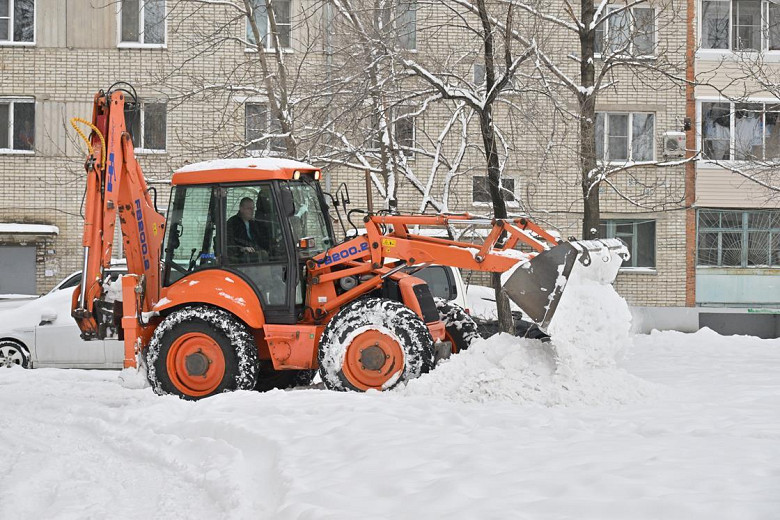
[[[128,273],[143,280],[141,310],[151,309],[159,294],[159,257],[165,220],[154,208],[135,159],[133,141],[125,125],[125,108],[129,103],[124,91],[98,92],[93,102],[92,123],[87,123],[92,132],[87,140],[90,153],[85,163],[84,263],[81,285],[73,294],[72,305],[73,317],[84,339],[105,336],[105,328],[100,326],[104,320],[100,302],[105,297],[103,272],[111,262],[117,215]]]

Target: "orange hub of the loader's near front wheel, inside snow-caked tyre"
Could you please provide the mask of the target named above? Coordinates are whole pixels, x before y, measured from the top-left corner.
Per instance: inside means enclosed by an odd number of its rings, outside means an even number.
[[[342,371],[355,388],[381,390],[404,369],[404,350],[392,337],[378,330],[358,334],[347,347]]]

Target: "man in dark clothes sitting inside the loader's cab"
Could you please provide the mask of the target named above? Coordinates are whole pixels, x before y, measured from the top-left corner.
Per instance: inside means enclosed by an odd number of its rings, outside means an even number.
[[[255,202],[244,197],[238,213],[227,221],[228,256],[232,263],[251,264],[268,260],[268,231],[254,219]]]

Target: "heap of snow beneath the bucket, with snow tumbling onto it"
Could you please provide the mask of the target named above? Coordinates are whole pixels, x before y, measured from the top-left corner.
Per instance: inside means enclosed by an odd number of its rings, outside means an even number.
[[[543,406],[642,400],[655,394],[655,387],[618,368],[616,361],[631,345],[630,328],[628,305],[612,286],[575,273],[550,325],[551,343],[508,334],[479,340],[400,392]]]

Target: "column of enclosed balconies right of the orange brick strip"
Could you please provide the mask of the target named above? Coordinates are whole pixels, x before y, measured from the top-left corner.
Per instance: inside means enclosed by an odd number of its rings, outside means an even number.
[[[778,6],[701,0],[695,89],[701,325],[780,335]]]

